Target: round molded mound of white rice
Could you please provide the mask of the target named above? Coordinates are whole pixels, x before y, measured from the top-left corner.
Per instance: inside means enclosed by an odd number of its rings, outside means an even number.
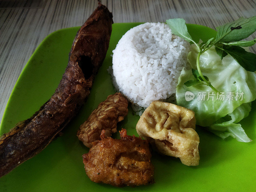
[[[143,108],[154,100],[166,100],[175,94],[180,72],[188,66],[189,47],[164,23],[130,29],[113,50],[109,73],[115,88]]]

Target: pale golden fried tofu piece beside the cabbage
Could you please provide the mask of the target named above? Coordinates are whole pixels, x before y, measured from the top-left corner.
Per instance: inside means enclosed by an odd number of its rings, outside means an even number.
[[[194,111],[161,101],[152,102],[136,125],[138,134],[161,154],[179,157],[185,165],[199,164],[199,136]]]

